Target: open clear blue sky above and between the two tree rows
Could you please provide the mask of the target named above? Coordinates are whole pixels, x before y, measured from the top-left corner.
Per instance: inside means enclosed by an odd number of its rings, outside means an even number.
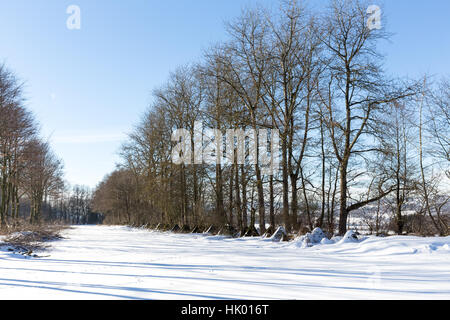
[[[311,1],[318,4],[323,0]],[[26,82],[28,106],[72,184],[94,187],[121,141],[177,66],[226,38],[241,8],[278,0],[0,0],[0,61]],[[375,4],[379,1],[374,1]],[[69,5],[81,30],[68,30]],[[450,75],[450,1],[385,0],[393,75]]]

